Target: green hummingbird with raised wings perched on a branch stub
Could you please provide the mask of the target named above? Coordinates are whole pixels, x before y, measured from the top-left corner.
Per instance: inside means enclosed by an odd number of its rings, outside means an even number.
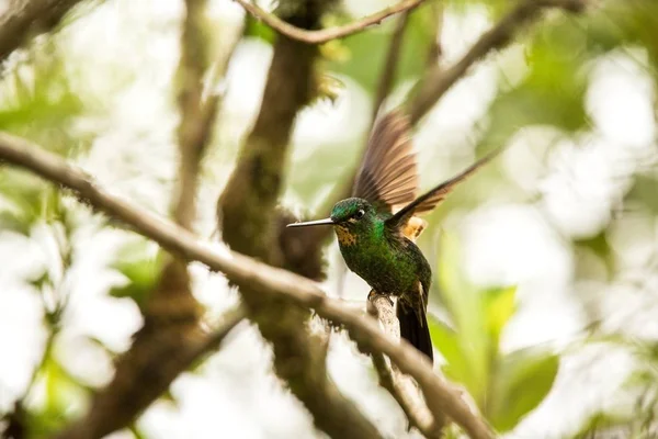
[[[427,306],[432,270],[416,238],[427,227],[418,215],[431,212],[455,185],[488,162],[486,156],[452,179],[417,195],[418,169],[407,115],[381,117],[368,138],[352,196],[328,218],[287,227],[333,226],[345,264],[379,294],[397,297],[401,338],[433,362]]]

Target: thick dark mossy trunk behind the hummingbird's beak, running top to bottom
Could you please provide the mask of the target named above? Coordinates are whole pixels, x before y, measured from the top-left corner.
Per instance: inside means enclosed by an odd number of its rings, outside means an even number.
[[[287,0],[280,8],[291,23],[317,29],[329,3]],[[231,249],[313,279],[322,275],[321,248],[303,246],[303,258],[288,259],[286,250],[295,249],[280,239],[286,213],[276,205],[295,117],[317,91],[317,46],[277,37],[258,117],[218,202],[224,241]],[[310,412],[316,427],[333,438],[379,438],[328,378],[327,340],[308,334],[309,311],[249,283],[238,284],[250,317],[272,342],[276,374]]]

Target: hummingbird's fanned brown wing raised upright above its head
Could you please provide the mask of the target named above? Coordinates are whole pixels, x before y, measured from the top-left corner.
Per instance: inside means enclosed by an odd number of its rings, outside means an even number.
[[[400,111],[392,111],[376,123],[371,134],[352,195],[393,213],[393,206],[413,201],[417,190],[411,125]]]

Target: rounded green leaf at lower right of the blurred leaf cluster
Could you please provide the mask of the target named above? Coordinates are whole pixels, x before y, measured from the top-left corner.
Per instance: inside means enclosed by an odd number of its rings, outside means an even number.
[[[509,431],[546,397],[557,375],[559,358],[527,348],[500,361],[485,414],[494,427]]]

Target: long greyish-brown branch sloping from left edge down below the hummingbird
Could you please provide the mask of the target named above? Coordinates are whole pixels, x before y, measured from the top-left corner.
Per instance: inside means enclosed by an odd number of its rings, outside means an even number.
[[[264,297],[313,308],[318,315],[343,324],[358,342],[385,353],[402,373],[417,381],[434,417],[445,413],[472,438],[494,438],[487,423],[470,412],[460,392],[434,374],[424,356],[404,340],[400,344],[392,341],[372,319],[327,297],[316,282],[228,249],[215,250],[166,218],[112,195],[82,170],[27,140],[0,133],[0,159],[75,191],[81,200],[131,224],[169,251],[222,271],[240,286],[258,291]]]

